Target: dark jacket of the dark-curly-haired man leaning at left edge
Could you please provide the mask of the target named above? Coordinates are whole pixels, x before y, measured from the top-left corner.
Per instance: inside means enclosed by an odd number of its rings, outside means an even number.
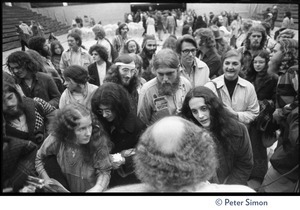
[[[31,88],[27,86],[24,80],[21,80],[19,85],[21,86],[25,96],[29,98],[41,98],[52,106],[58,108],[61,94],[51,76],[38,72],[33,79]]]

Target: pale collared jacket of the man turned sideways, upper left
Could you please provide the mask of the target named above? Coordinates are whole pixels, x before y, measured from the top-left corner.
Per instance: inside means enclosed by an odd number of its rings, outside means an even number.
[[[73,51],[71,48],[64,51],[62,53],[59,66],[63,73],[68,66],[79,65],[87,69],[91,63],[93,63],[93,59],[89,55],[88,51],[79,47],[77,52]]]

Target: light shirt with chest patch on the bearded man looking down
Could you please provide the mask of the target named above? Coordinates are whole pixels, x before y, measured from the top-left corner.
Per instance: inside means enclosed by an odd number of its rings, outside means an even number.
[[[185,77],[180,76],[176,93],[172,96],[162,96],[158,93],[157,78],[153,78],[146,82],[140,91],[138,117],[143,123],[150,125],[162,117],[180,113],[184,98],[191,89],[191,83]]]

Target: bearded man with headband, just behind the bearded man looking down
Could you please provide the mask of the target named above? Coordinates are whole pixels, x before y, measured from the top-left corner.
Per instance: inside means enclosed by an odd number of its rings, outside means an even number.
[[[140,56],[143,60],[142,77],[146,81],[149,81],[155,77],[155,74],[151,72],[152,67],[150,64],[156,49],[157,44],[155,37],[146,34],[142,43],[142,52],[140,53]]]

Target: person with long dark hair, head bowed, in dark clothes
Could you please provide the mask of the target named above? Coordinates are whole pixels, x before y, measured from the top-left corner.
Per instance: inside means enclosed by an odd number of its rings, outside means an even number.
[[[129,97],[121,85],[107,82],[96,90],[91,102],[93,113],[110,137],[109,149],[114,170],[109,187],[139,183],[132,158],[145,125],[131,110]]]

